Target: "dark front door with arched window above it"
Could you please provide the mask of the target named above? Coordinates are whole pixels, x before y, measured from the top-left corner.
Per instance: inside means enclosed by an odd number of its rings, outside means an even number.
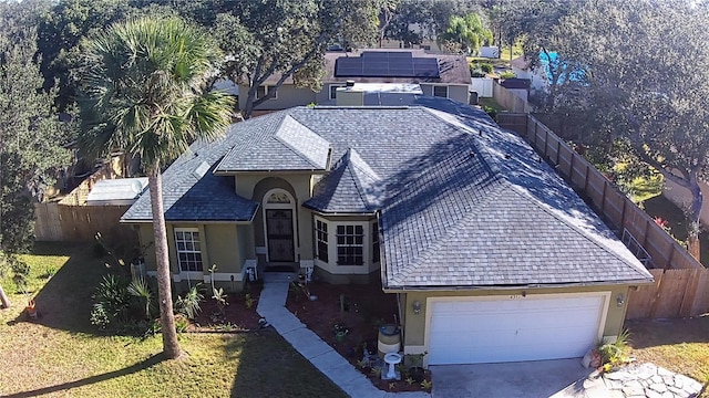
[[[296,261],[296,201],[290,192],[275,188],[266,192],[264,202],[264,233],[266,261],[292,263]]]

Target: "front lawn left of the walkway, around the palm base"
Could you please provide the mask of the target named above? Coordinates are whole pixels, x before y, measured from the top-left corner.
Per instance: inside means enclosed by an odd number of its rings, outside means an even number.
[[[91,294],[115,270],[91,249],[40,244],[23,256],[32,265],[38,321],[27,320],[25,297],[2,280],[13,306],[0,311],[0,396],[345,396],[274,331],[181,334],[186,355],[176,360],[162,360],[160,336],[99,333],[89,323]]]

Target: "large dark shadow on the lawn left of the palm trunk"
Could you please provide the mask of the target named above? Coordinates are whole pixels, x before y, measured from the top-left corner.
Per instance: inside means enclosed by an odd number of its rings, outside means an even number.
[[[109,270],[96,259],[90,244],[38,244],[38,255],[68,255],[69,260],[39,292],[31,292],[37,303],[38,318],[30,320],[25,312],[8,325],[19,322],[38,323],[72,333],[96,334],[90,322],[92,294]]]

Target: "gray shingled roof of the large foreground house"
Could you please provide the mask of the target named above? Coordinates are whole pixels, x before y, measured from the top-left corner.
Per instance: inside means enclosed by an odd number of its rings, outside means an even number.
[[[294,155],[261,159],[263,148],[281,150],[284,134],[309,144],[291,142],[285,147]],[[296,107],[235,124],[227,137],[193,146],[197,156],[185,155],[164,172],[166,214],[199,219],[207,202],[242,216],[256,209],[234,193],[232,177],[207,172],[195,179],[191,170],[198,161],[191,156],[209,159],[210,170],[239,159],[242,172],[267,168],[277,175],[318,164],[325,143],[332,165],[304,206],[321,213],[380,211],[387,289],[651,280],[521,137],[484,112],[445,98],[414,97],[411,106],[395,107]],[[193,191],[204,199],[175,199]],[[123,220],[150,217],[146,209],[150,198],[143,196]]]

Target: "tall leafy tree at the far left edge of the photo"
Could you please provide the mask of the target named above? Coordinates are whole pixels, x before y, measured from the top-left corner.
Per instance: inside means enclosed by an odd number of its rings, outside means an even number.
[[[31,4],[0,3],[0,251],[33,243],[34,203],[69,166],[71,125],[53,107],[55,90],[35,60]]]

